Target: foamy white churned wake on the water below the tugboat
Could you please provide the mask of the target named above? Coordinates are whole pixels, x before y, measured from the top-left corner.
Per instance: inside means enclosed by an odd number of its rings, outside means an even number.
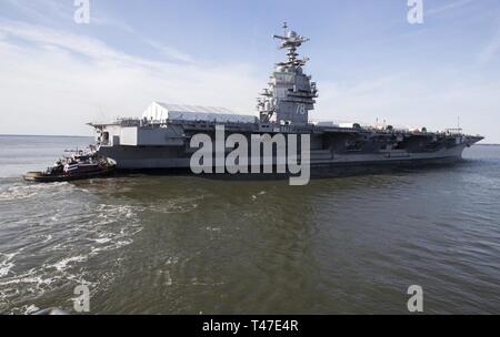
[[[108,263],[108,254],[133,243],[133,236],[142,229],[138,214],[143,207],[102,203],[98,196],[66,183],[2,186],[0,207],[2,202],[26,202],[30,206],[27,218],[9,222],[9,233],[18,239],[0,246],[2,313],[30,312],[37,298],[69,284],[86,283],[93,290],[106,287],[112,282],[112,270],[90,273],[89,259]]]

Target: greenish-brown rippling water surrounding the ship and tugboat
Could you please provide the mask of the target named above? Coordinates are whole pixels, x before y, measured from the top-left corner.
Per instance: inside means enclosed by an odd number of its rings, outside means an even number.
[[[500,146],[458,165],[288,181],[24,183],[91,139],[0,136],[0,313],[500,314]]]

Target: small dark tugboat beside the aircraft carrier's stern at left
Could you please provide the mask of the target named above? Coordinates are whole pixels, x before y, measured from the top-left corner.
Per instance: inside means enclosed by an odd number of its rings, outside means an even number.
[[[46,172],[28,172],[24,180],[38,183],[86,180],[109,175],[116,166],[113,160],[100,156],[94,151],[88,153],[80,151],[60,159]]]

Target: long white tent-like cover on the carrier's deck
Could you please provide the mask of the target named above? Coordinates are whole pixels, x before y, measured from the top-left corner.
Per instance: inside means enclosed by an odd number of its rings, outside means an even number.
[[[256,123],[252,115],[234,114],[224,108],[179,105],[153,102],[142,114],[148,121],[208,121],[222,123]]]

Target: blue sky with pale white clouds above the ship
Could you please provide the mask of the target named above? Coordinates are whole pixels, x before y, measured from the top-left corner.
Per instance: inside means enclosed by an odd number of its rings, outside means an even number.
[[[0,134],[91,135],[153,101],[257,115],[287,21],[311,39],[311,120],[500,143],[500,1],[422,0],[421,24],[407,1],[89,0],[79,24],[74,0],[0,0]]]

